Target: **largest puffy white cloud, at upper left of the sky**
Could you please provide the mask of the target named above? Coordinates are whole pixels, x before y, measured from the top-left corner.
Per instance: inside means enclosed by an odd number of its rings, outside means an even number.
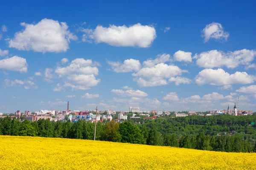
[[[77,37],[70,33],[67,23],[43,19],[37,24],[20,23],[22,31],[16,32],[14,39],[8,40],[9,47],[22,51],[65,52],[70,40]]]

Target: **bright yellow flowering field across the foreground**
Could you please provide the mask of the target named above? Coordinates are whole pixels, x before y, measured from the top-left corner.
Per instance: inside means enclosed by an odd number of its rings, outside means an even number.
[[[256,153],[81,139],[0,136],[0,170],[256,169]]]

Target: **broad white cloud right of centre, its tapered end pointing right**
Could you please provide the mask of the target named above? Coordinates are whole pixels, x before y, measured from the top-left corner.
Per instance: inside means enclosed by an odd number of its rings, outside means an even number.
[[[167,65],[164,63],[159,63],[152,68],[142,68],[137,73],[132,74],[137,81],[138,85],[141,87],[150,87],[158,85],[166,85],[167,80],[171,77],[181,75],[186,70],[181,70],[175,65]]]

